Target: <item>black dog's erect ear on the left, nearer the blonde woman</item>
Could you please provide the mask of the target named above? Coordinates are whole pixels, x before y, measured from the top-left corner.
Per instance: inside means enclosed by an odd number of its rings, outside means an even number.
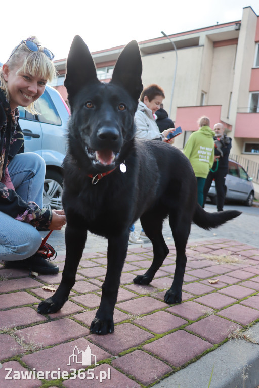
[[[68,99],[90,82],[99,82],[95,64],[88,46],[79,35],[76,35],[67,57],[67,74],[64,85],[68,92]]]

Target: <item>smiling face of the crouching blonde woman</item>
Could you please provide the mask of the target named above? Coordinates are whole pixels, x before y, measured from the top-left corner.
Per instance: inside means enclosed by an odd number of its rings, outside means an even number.
[[[47,80],[41,79],[36,75],[26,72],[18,72],[22,63],[9,69],[7,64],[3,65],[3,77],[7,82],[8,92],[10,95],[10,106],[14,110],[19,105],[27,107],[36,101],[45,90]]]

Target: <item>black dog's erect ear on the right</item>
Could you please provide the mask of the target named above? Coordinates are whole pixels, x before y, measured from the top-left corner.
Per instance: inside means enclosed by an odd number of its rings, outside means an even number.
[[[142,62],[139,46],[136,40],[132,40],[121,52],[111,82],[125,87],[132,97],[138,100],[143,90],[141,74]]]

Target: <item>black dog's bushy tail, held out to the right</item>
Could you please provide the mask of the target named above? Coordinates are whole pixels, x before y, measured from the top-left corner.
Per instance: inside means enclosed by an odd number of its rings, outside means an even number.
[[[217,228],[225,222],[239,216],[242,212],[237,210],[225,210],[223,212],[208,213],[197,203],[193,216],[193,222],[200,228],[209,230]]]

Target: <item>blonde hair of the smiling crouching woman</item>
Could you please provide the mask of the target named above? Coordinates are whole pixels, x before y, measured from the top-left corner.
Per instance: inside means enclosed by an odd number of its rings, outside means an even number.
[[[30,36],[27,40],[39,44],[36,36]],[[17,66],[17,64],[21,64],[21,67],[16,72],[17,74],[24,72],[31,74],[33,77],[37,76],[46,79],[47,81],[52,81],[56,76],[56,69],[53,61],[48,58],[43,51],[39,50],[37,52],[31,52],[24,43],[15,47],[6,63],[10,70]],[[10,95],[8,85],[3,77],[2,67],[0,67],[0,88],[4,90],[7,100],[9,100]],[[38,114],[36,110],[36,101],[29,104],[25,109],[32,114]]]

